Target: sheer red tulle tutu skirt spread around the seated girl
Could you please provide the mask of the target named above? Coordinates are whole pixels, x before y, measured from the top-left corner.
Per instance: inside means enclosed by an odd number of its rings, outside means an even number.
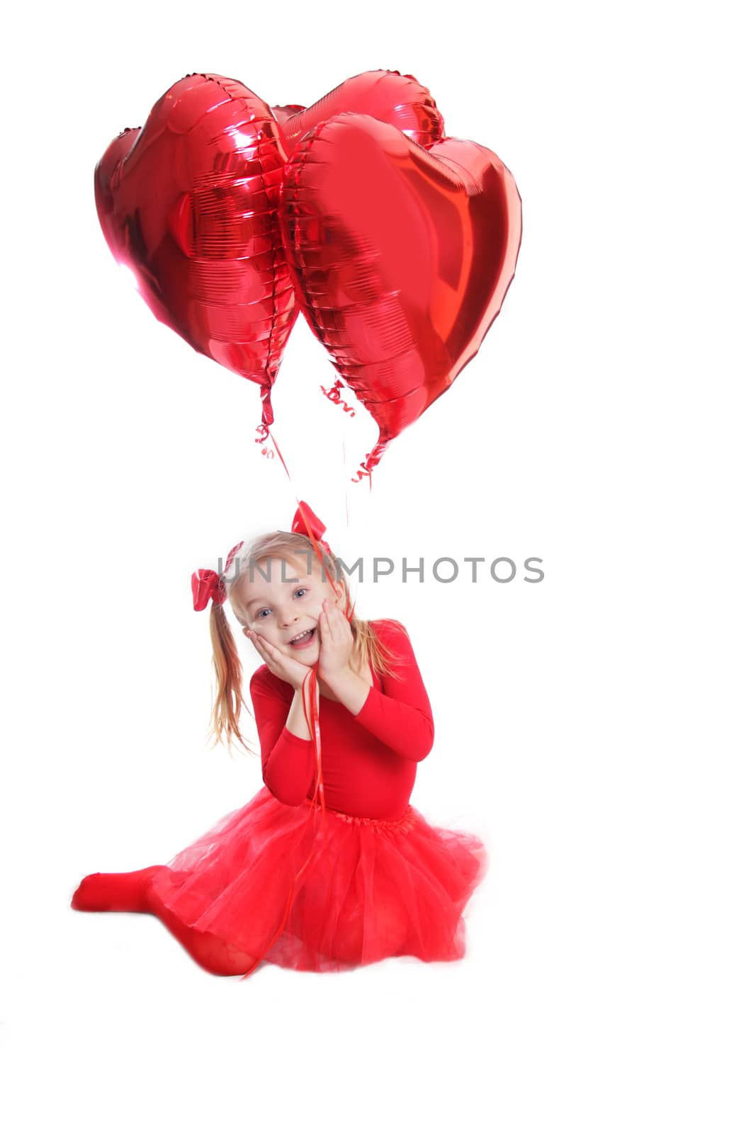
[[[358,818],[264,786],[152,879],[186,926],[261,961],[339,971],[388,956],[459,960],[462,911],[489,866],[473,834]],[[252,970],[246,974],[252,974]]]

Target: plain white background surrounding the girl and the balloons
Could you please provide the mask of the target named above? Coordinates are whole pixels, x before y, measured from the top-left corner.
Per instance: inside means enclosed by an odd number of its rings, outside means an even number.
[[[753,1131],[753,51],[746,6],[35,5],[6,25],[2,1091],[12,1133]],[[385,68],[523,196],[477,358],[376,428],[160,324],[99,228],[95,162],[192,71],[312,103]],[[354,399],[352,399],[354,400]],[[413,802],[484,836],[457,964],[249,980],[153,918],[68,902],[261,785],[205,744],[189,578],[288,527],[337,553],[544,581],[368,580],[436,722]],[[252,668],[258,659],[250,650]],[[247,732],[254,724],[245,716]],[[273,1125],[273,1123],[275,1123]]]

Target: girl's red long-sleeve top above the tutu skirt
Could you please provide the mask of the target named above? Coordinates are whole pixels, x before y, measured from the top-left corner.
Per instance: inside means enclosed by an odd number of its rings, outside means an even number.
[[[357,715],[338,700],[320,698],[321,761],[325,804],[364,818],[400,818],[415,785],[417,764],[433,747],[431,702],[415,653],[400,622],[371,622],[398,656],[397,676],[379,676]],[[397,627],[400,627],[399,629]],[[260,734],[263,782],[281,802],[296,807],[315,793],[312,740],[286,726],[294,688],[261,665],[249,682]]]

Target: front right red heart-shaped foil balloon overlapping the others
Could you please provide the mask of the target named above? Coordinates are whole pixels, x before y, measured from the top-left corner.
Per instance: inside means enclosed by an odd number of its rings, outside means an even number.
[[[279,213],[307,322],[379,426],[362,478],[477,353],[515,275],[520,195],[475,142],[423,148],[342,113],[295,147]]]

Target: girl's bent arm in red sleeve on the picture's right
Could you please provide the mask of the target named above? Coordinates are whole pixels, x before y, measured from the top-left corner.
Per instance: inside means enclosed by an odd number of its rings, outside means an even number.
[[[392,663],[397,676],[384,675],[385,691],[381,692],[375,685],[368,689],[357,673],[347,670],[332,682],[331,689],[372,735],[397,755],[419,763],[433,748],[431,701],[404,625],[380,622],[377,628],[381,639],[398,655]]]

